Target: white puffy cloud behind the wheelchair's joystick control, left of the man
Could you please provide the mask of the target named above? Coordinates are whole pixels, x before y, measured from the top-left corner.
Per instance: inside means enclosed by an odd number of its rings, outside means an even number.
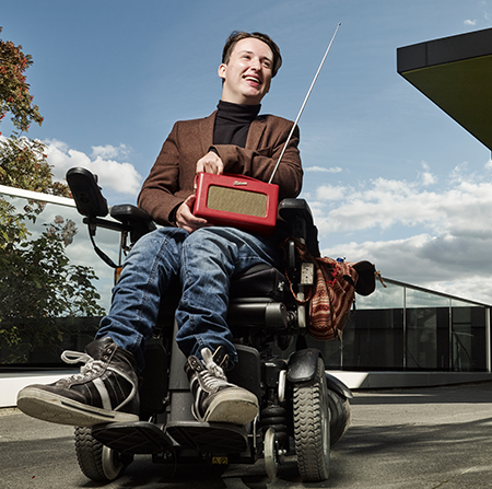
[[[48,163],[54,166],[54,175],[63,179],[67,171],[82,166],[97,175],[98,184],[119,194],[137,195],[142,177],[130,163],[120,163],[114,159],[125,158],[128,150],[125,144],[119,148],[107,145],[93,147],[91,156],[57,140],[47,141]]]

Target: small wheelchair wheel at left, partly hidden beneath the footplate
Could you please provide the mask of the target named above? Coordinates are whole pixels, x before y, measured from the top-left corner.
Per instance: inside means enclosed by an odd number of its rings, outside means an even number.
[[[129,461],[124,463],[117,452],[95,440],[91,428],[75,428],[75,452],[84,476],[96,482],[117,479],[129,465]]]

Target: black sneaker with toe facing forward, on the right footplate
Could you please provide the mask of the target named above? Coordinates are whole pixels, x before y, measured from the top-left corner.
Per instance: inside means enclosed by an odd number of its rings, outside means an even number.
[[[191,356],[185,364],[195,398],[191,407],[195,418],[234,424],[253,421],[258,415],[258,399],[249,391],[227,382],[221,366],[227,362],[223,348],[220,347],[213,356],[204,348],[201,356],[203,361]]]

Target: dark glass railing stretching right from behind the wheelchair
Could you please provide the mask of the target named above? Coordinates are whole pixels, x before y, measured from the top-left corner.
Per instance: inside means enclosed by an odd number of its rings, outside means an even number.
[[[321,349],[327,368],[490,372],[490,305],[384,279],[356,298],[342,339]]]

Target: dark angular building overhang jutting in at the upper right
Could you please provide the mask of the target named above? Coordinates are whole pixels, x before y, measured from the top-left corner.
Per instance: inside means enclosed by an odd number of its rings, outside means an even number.
[[[400,47],[397,70],[492,150],[492,28]]]

